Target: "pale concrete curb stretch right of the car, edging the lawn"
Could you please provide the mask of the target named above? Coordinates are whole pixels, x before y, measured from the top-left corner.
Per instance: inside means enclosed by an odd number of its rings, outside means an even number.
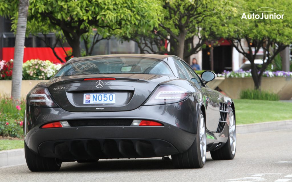
[[[272,130],[292,129],[292,120],[270,121],[263,123],[244,124],[236,126],[237,134],[254,133]]]

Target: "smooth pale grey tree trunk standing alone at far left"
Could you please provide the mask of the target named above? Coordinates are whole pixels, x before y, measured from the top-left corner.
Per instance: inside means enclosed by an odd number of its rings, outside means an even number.
[[[21,80],[22,80],[22,63],[24,53],[25,31],[27,23],[29,0],[20,0],[18,9],[18,22],[15,37],[12,89],[11,97],[14,100],[20,100]]]

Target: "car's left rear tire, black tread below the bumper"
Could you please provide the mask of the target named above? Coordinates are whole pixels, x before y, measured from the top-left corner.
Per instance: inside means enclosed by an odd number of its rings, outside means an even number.
[[[33,153],[24,142],[25,160],[29,170],[38,171],[58,171],[62,162],[55,158],[41,157]]]

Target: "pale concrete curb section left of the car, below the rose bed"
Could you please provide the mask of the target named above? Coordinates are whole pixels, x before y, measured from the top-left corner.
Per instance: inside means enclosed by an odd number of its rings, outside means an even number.
[[[0,167],[25,163],[24,149],[0,151]]]

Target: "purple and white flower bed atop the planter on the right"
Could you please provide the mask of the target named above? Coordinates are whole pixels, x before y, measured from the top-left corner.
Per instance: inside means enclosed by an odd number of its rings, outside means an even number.
[[[217,74],[217,77],[226,77],[226,78],[245,78],[252,77],[251,70],[243,71],[242,69],[237,71],[226,71],[223,73]],[[264,71],[263,77],[292,77],[292,72],[286,71]]]

